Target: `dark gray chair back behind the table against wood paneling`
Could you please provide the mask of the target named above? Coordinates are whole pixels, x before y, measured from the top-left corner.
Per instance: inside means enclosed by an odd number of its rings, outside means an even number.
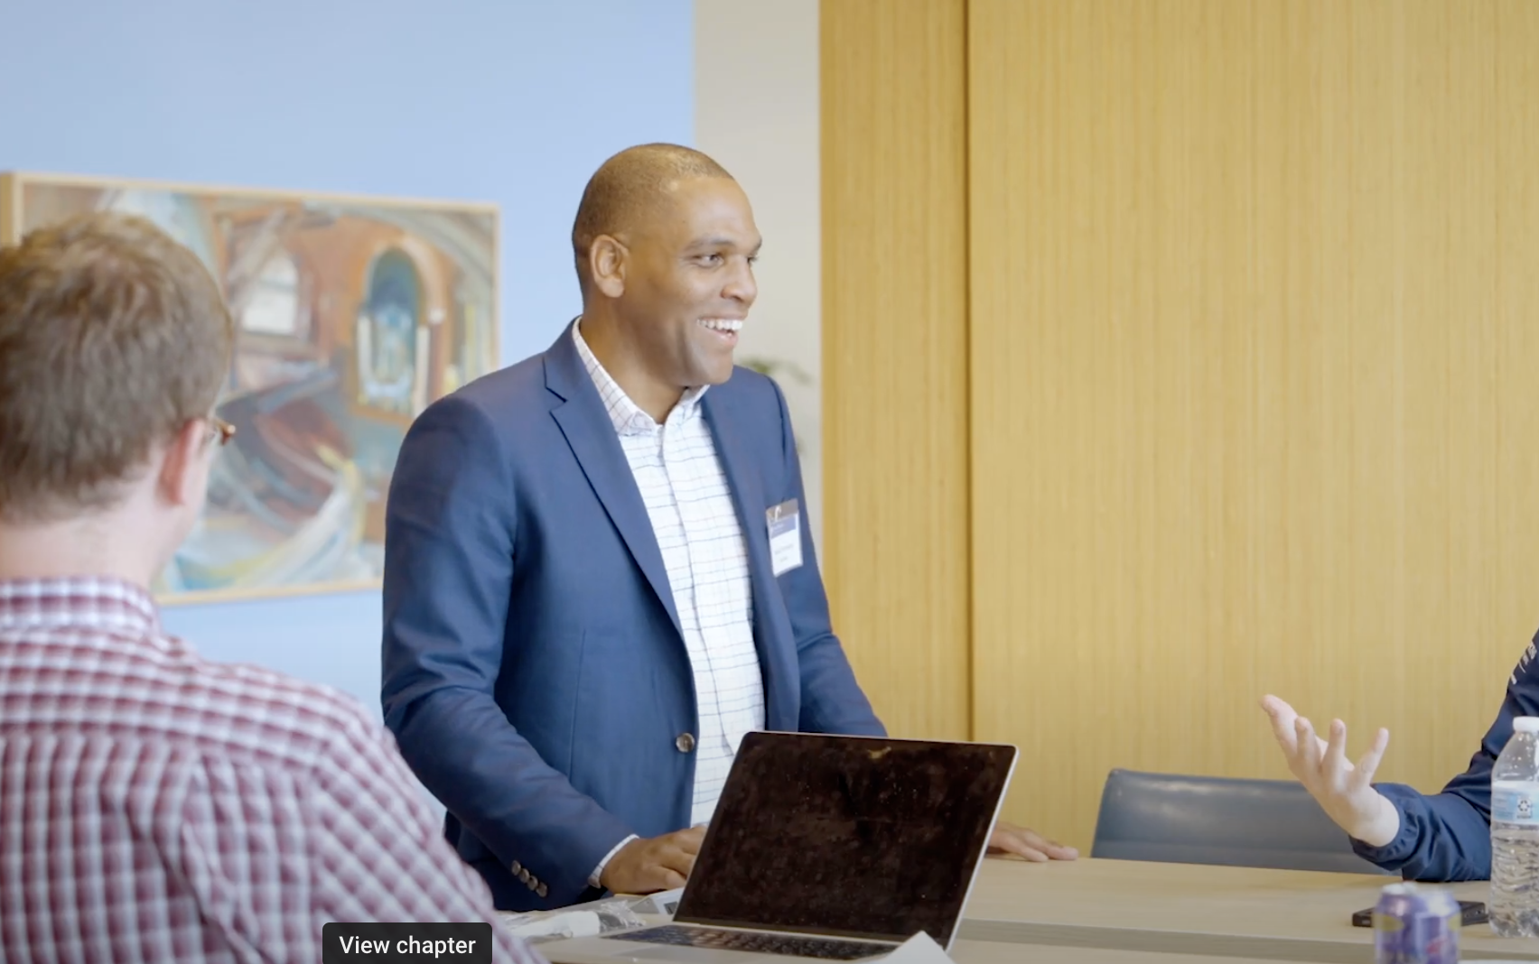
[[[1300,784],[1113,770],[1091,856],[1279,870],[1388,873]]]

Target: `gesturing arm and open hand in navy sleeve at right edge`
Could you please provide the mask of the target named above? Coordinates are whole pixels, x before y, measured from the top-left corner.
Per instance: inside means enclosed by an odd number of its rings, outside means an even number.
[[[1513,718],[1539,715],[1539,673],[1528,646],[1507,683],[1496,721],[1485,732],[1470,769],[1441,793],[1373,783],[1390,732],[1379,729],[1354,766],[1347,760],[1347,724],[1333,720],[1320,740],[1308,720],[1277,696],[1262,700],[1288,769],[1325,813],[1351,836],[1365,859],[1416,881],[1481,881],[1491,876],[1491,767],[1513,735]]]

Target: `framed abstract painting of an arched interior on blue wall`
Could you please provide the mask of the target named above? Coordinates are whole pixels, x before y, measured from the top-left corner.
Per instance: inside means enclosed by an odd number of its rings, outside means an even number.
[[[237,434],[160,600],[377,586],[406,427],[497,367],[496,206],[0,175],[0,243],[85,211],[155,221],[235,321],[217,411]]]

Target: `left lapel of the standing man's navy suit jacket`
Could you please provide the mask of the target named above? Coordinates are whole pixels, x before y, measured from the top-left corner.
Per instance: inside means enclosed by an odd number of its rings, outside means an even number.
[[[566,437],[566,444],[577,457],[588,484],[609,514],[609,521],[631,550],[631,558],[668,610],[674,630],[683,638],[673,587],[668,584],[668,567],[663,566],[653,521],[646,515],[646,504],[642,501],[640,489],[636,487],[636,475],[625,460],[625,450],[614,434],[614,423],[603,407],[603,398],[599,397],[599,389],[594,387],[573,343],[571,326],[545,354],[545,387],[563,400],[551,409],[551,417]]]

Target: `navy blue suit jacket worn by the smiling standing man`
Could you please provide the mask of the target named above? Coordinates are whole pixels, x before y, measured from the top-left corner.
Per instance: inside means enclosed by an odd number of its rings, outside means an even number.
[[[880,735],[830,626],[779,386],[736,369],[702,412],[748,546],[766,729]],[[777,578],[765,512],[793,498],[805,561]],[[382,655],[385,724],[497,907],[593,896],[588,875],[626,835],[689,826],[694,753],[679,736],[697,732],[694,676],[640,490],[569,326],[406,434],[386,510]]]

